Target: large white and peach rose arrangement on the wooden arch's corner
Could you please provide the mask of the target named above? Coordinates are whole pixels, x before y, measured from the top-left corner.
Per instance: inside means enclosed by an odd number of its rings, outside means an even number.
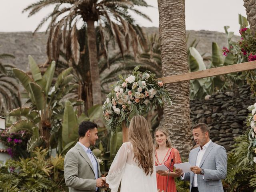
[[[163,82],[156,80],[154,73],[142,73],[136,66],[132,74],[119,75],[119,78],[103,104],[103,114],[108,121],[106,126],[112,131],[122,122],[128,126],[133,116],[148,113],[153,105],[163,107],[165,102],[172,105],[172,97],[164,89]]]

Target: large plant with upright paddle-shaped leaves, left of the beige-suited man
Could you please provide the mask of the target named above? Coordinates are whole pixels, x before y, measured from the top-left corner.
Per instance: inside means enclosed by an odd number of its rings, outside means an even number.
[[[61,143],[61,120],[64,112],[64,97],[78,87],[72,83],[72,68],[62,71],[56,78],[52,86],[55,62],[53,61],[42,76],[36,62],[28,56],[32,78],[17,68],[13,69],[14,74],[20,80],[25,89],[24,98],[26,104],[12,110],[10,116],[24,117],[13,124],[11,132],[27,130],[33,134],[28,141],[28,151],[32,151],[35,146],[45,145],[56,148],[58,142]],[[81,100],[66,98],[72,105],[81,105]]]

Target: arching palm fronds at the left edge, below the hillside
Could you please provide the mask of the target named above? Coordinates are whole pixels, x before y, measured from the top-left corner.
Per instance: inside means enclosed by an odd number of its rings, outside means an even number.
[[[0,60],[4,58],[14,58],[14,56],[0,54]],[[17,80],[12,73],[13,67],[0,61],[0,113],[2,114],[21,106]]]

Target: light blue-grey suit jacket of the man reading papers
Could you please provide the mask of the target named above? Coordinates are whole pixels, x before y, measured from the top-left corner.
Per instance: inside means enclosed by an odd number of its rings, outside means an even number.
[[[192,149],[189,153],[188,162],[191,166],[196,166],[196,158],[199,147]],[[227,154],[223,146],[210,142],[199,165],[204,169],[203,175],[197,176],[199,192],[223,192],[222,179],[227,175]],[[195,174],[185,173],[183,180],[190,181],[190,192]]]

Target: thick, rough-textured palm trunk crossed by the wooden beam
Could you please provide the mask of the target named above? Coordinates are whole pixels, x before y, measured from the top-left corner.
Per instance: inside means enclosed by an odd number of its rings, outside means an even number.
[[[185,0],[158,0],[159,33],[163,76],[188,72],[185,28]],[[164,106],[164,125],[170,133],[172,145],[182,156],[192,147],[190,131],[189,82],[166,86],[174,98],[174,105]]]

